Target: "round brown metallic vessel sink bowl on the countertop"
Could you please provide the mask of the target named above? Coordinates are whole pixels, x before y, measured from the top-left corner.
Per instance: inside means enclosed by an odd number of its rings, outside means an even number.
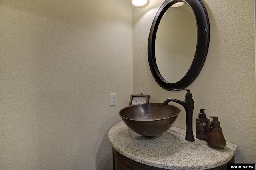
[[[180,108],[174,105],[143,103],[121,109],[119,116],[132,131],[153,137],[172,127],[179,113]]]

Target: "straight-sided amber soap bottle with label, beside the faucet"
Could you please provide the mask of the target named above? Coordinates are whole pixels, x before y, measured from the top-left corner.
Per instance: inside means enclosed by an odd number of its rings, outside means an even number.
[[[209,131],[210,120],[204,113],[205,109],[200,109],[198,118],[196,118],[196,138],[206,140]]]

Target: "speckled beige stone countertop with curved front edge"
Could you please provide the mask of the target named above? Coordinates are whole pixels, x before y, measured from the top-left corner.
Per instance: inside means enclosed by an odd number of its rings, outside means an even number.
[[[147,138],[130,130],[124,122],[108,133],[110,143],[120,154],[136,162],[172,170],[202,170],[226,164],[238,150],[227,142],[224,149],[213,149],[207,142],[185,140],[186,130],[171,127],[167,132]]]

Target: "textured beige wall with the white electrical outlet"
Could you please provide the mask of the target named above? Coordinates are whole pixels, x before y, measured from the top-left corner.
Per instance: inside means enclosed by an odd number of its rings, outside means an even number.
[[[0,170],[111,170],[132,84],[127,0],[1,0]]]

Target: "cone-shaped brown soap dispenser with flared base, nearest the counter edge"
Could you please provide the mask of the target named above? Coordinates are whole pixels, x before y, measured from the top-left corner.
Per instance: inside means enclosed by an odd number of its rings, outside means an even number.
[[[227,143],[222,133],[220,122],[217,116],[210,116],[213,120],[211,121],[211,126],[209,128],[209,133],[206,138],[206,142],[212,148],[222,149]]]

